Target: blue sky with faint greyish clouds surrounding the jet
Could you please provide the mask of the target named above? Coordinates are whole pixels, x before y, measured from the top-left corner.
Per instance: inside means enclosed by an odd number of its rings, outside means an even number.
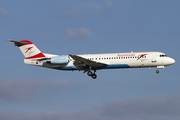
[[[0,4],[1,120],[179,120],[180,1],[8,0]],[[160,70],[78,71],[23,63],[5,41],[30,40],[57,55],[159,51]]]

